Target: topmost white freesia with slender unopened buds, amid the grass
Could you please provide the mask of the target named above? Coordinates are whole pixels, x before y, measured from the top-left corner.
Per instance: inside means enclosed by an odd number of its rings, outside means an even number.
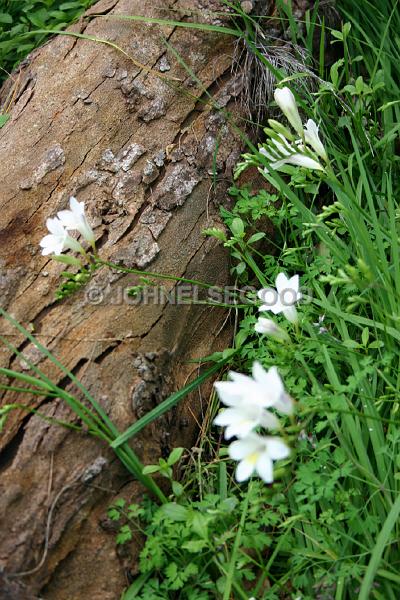
[[[319,137],[318,125],[308,119],[303,127],[296,100],[288,87],[277,88],[274,98],[295,134],[278,121],[268,120],[270,129],[265,131],[269,134],[269,140],[259,150],[269,162],[266,170],[279,170],[283,165],[289,164],[324,171],[320,159],[327,162],[328,156]]]

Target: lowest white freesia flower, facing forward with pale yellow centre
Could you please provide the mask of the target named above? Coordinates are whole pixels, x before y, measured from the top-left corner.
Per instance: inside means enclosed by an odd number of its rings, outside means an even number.
[[[272,483],[273,461],[287,458],[290,454],[289,447],[280,438],[256,433],[232,442],[228,451],[233,460],[240,461],[235,473],[239,482],[246,481],[256,472],[265,483]]]

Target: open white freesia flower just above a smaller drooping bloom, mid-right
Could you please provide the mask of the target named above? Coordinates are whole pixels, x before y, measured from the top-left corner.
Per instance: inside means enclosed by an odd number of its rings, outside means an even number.
[[[258,297],[264,302],[260,311],[271,311],[274,315],[283,313],[291,323],[297,322],[296,302],[301,299],[299,291],[299,276],[294,275],[290,279],[284,273],[279,273],[275,280],[276,290],[264,288],[258,292]]]

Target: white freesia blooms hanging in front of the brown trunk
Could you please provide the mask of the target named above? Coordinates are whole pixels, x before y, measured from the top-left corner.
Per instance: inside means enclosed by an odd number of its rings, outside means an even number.
[[[56,217],[46,220],[46,226],[50,233],[40,241],[44,256],[48,254],[58,256],[67,249],[84,254],[82,245],[69,235],[68,231],[71,230],[78,231],[95,250],[94,233],[86,218],[84,203],[78,202],[71,196],[69,207],[69,210],[60,210]]]

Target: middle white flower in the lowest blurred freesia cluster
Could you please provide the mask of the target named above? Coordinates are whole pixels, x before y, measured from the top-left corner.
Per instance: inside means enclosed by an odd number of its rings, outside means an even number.
[[[279,420],[259,404],[247,403],[245,399],[237,408],[226,408],[214,419],[214,424],[226,427],[225,438],[245,437],[256,427],[278,429]]]

